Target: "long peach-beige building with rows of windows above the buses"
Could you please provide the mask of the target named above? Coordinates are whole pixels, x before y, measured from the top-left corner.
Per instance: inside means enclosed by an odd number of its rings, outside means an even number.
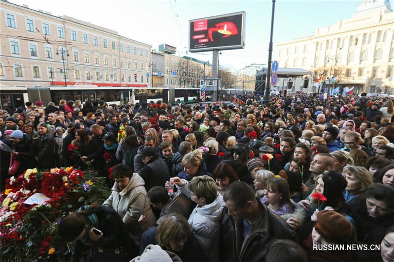
[[[2,91],[81,84],[151,86],[151,45],[69,16],[4,0],[0,4]]]

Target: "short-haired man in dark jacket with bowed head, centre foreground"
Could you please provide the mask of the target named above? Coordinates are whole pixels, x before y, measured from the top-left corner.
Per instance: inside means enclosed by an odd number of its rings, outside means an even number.
[[[236,219],[235,261],[265,261],[267,246],[272,239],[297,239],[286,222],[256,199],[255,192],[245,182],[232,182],[223,200],[229,214]]]

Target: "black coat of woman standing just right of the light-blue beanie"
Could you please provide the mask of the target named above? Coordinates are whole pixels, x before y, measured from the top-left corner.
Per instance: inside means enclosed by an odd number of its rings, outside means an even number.
[[[35,144],[37,168],[49,169],[56,166],[56,146],[55,138],[49,132],[38,137]]]

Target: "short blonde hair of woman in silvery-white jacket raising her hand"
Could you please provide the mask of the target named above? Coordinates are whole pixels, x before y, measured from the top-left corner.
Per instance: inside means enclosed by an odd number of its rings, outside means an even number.
[[[208,175],[193,177],[188,184],[188,188],[197,198],[205,198],[206,204],[211,204],[218,195],[218,186],[215,180]]]

